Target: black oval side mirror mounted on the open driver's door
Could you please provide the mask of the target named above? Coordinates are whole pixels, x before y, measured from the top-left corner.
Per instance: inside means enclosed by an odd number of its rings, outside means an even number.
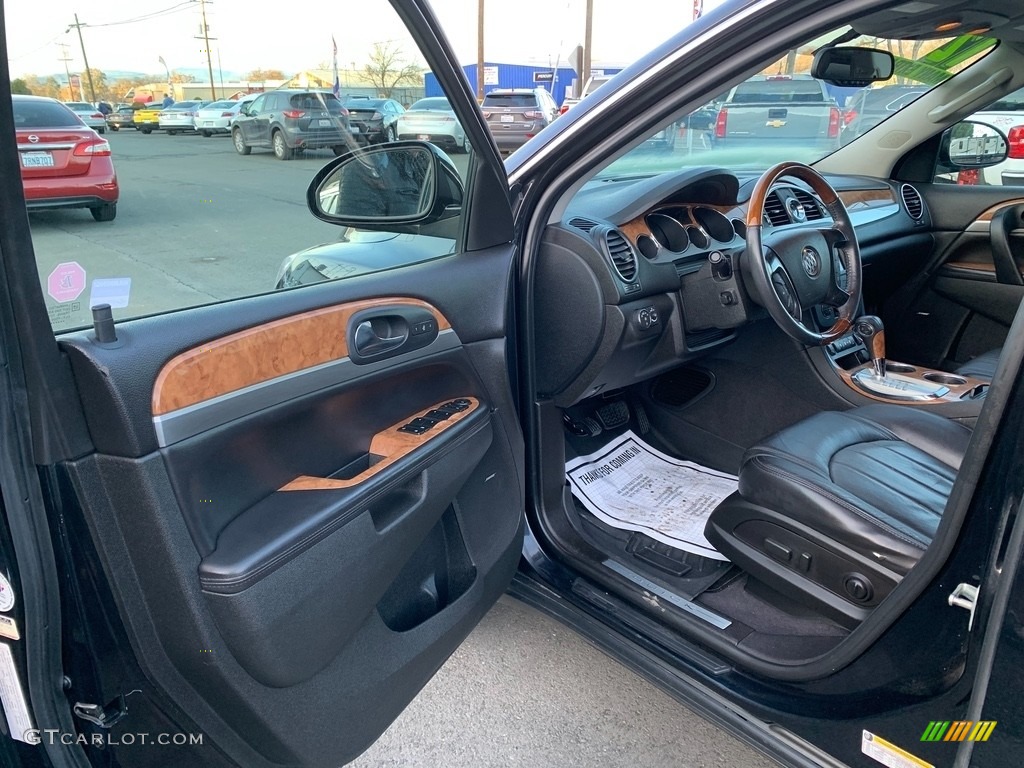
[[[384,231],[456,216],[462,199],[452,160],[427,141],[345,153],[324,166],[306,190],[306,204],[322,221]]]

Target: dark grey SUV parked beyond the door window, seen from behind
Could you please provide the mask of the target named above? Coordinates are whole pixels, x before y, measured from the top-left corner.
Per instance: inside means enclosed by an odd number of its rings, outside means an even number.
[[[261,93],[231,121],[231,140],[239,155],[260,146],[271,150],[278,160],[291,160],[304,150],[329,147],[340,154],[356,141],[354,133],[348,111],[331,91]]]

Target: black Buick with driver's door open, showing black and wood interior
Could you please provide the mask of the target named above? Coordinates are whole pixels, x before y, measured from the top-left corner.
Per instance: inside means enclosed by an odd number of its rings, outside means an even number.
[[[665,764],[702,716],[791,768],[1019,765],[1022,195],[948,177],[1008,157],[970,115],[1020,87],[1024,7],[687,8],[509,157],[450,42],[465,10],[359,12],[429,62],[468,156],[341,135],[258,183],[183,166],[176,199],[141,172],[168,225],[102,249],[30,227],[0,175],[4,768],[334,768],[506,592],[685,706]],[[844,145],[751,121],[650,151],[787,68],[929,90]],[[379,237],[267,290],[330,224]],[[97,279],[117,314],[72,315]],[[471,760],[509,762],[508,727]],[[575,768],[578,740],[531,764]]]

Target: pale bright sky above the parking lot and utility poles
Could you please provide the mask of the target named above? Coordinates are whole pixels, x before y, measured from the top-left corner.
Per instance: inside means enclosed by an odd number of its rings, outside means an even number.
[[[583,42],[586,0],[484,0],[488,60],[565,63]],[[706,10],[721,0],[705,0]],[[99,70],[159,74],[159,57],[176,68],[206,67],[198,0],[3,0],[11,75],[80,71],[82,28],[89,65]],[[294,12],[290,6],[294,5]],[[478,0],[434,0],[464,63],[476,60]],[[206,4],[214,71],[292,73],[331,60],[361,69],[373,43],[393,40],[413,53],[385,0],[216,0]],[[690,23],[689,0],[594,0],[593,58],[624,65]],[[60,44],[66,44],[61,49]],[[66,50],[67,53],[63,53]]]

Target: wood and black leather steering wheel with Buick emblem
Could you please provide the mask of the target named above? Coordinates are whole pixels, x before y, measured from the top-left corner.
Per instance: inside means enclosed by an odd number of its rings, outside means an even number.
[[[783,176],[810,185],[831,216],[831,223],[765,232],[765,202],[772,185]],[[787,204],[787,208],[797,212],[795,218],[801,217],[803,208],[798,202],[792,207]],[[746,211],[746,255],[754,298],[786,334],[804,344],[823,345],[850,330],[860,306],[860,248],[846,206],[817,171],[803,163],[786,162],[762,174]],[[846,288],[839,283],[841,267],[846,270]],[[836,310],[836,322],[827,331],[804,322],[805,310],[817,305]]]

